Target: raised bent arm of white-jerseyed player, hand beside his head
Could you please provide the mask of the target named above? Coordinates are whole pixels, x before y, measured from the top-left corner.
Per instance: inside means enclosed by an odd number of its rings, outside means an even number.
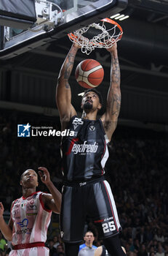
[[[61,193],[57,190],[55,185],[52,183],[49,175],[49,171],[46,167],[39,167],[39,176],[41,181],[47,186],[49,189],[49,194],[43,194],[42,200],[44,202],[45,208],[54,211],[56,214],[60,214],[60,206],[61,206]]]

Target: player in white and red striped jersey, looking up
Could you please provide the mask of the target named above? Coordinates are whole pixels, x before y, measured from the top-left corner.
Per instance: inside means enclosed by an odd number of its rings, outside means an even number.
[[[36,192],[38,177],[28,169],[20,178],[23,196],[12,203],[9,224],[4,222],[4,206],[0,203],[0,230],[8,241],[12,241],[10,256],[48,256],[44,246],[47,240],[47,227],[52,211],[60,213],[61,194],[50,180],[45,167],[39,167],[41,181],[51,194]]]

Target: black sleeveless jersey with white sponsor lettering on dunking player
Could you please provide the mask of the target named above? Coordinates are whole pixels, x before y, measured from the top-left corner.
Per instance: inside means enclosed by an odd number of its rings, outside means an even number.
[[[65,181],[87,181],[103,176],[108,159],[108,138],[102,121],[73,116],[68,129],[74,135],[62,140]]]

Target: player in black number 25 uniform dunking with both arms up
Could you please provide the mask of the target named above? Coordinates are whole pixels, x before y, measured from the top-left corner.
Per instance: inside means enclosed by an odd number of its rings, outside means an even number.
[[[74,136],[62,140],[65,184],[60,215],[60,229],[66,256],[76,256],[82,241],[86,216],[92,217],[111,255],[125,256],[119,241],[121,226],[111,187],[103,177],[108,159],[107,144],[116,129],[121,104],[120,69],[116,44],[111,53],[111,83],[106,112],[97,120],[102,107],[100,93],[85,91],[81,100],[82,117],[71,105],[68,78],[79,46],[73,44],[60,69],[56,101],[62,129],[71,129]]]

